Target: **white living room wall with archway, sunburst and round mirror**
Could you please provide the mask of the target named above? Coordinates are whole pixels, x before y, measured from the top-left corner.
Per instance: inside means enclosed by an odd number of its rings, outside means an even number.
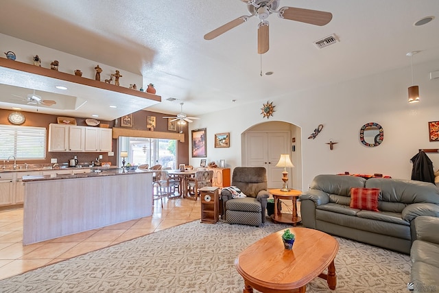
[[[307,189],[318,174],[351,172],[381,173],[392,178],[410,179],[410,158],[419,148],[439,148],[429,142],[428,121],[439,121],[439,80],[429,80],[429,72],[439,69],[439,60],[414,65],[414,81],[420,87],[420,102],[407,102],[411,86],[410,66],[357,80],[275,97],[270,121],[285,121],[302,130],[302,186]],[[361,70],[361,69],[359,69]],[[225,159],[227,167],[241,165],[241,133],[260,124],[264,101],[239,105],[226,111],[199,116],[191,129],[206,128],[208,161]],[[239,99],[236,103],[239,103]],[[381,124],[384,140],[375,148],[359,141],[359,130],[368,122]],[[316,139],[307,139],[319,125],[324,128]],[[214,134],[230,132],[230,148],[214,148]],[[326,143],[337,142],[333,150]],[[298,145],[298,143],[296,143]],[[297,146],[296,146],[297,148]],[[434,170],[439,169],[439,154],[429,154]],[[191,159],[199,165],[200,159]]]

